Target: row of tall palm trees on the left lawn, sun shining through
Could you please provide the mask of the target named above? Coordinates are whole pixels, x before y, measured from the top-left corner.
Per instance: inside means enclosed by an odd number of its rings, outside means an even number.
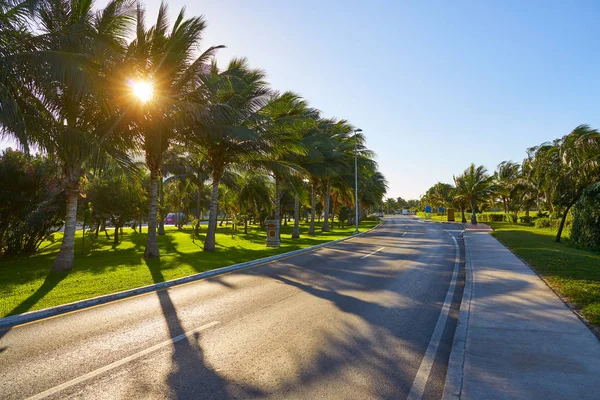
[[[54,271],[73,266],[82,178],[109,160],[135,178],[138,153],[149,171],[147,258],[160,256],[157,213],[174,147],[184,149],[197,183],[212,186],[205,251],[215,250],[219,187],[232,171],[270,177],[276,218],[283,188],[300,193],[308,182],[311,234],[317,197],[328,203],[333,187],[348,195],[355,149],[363,204],[385,193],[362,134],[293,92],[274,91],[245,59],[219,68],[223,46],[198,52],[205,27],[183,10],[170,24],[165,3],[148,27],[134,0],[99,10],[84,0],[0,0],[0,132],[62,166],[66,218]]]

